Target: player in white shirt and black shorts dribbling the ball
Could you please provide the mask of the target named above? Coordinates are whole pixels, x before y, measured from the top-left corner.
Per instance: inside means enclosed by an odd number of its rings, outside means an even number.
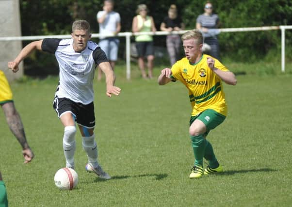
[[[75,21],[71,35],[71,39],[46,38],[28,44],[14,61],[8,63],[8,68],[17,72],[18,64],[35,49],[55,54],[60,68],[60,81],[53,107],[65,127],[63,149],[66,167],[74,169],[77,122],[82,135],[83,149],[88,157],[86,170],[95,172],[100,178],[110,179],[111,176],[105,173],[97,162],[93,104],[93,79],[96,67],[105,73],[107,96],[118,96],[121,89],[114,86],[114,71],[105,53],[96,43],[89,41],[91,38],[89,23],[85,20]]]

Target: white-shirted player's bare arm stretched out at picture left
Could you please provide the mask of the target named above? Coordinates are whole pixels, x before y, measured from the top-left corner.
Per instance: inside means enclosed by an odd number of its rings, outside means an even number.
[[[35,49],[42,50],[42,43],[43,43],[43,40],[38,40],[38,41],[31,42],[30,44],[25,46],[17,55],[14,61],[8,62],[8,68],[12,69],[12,71],[16,73],[18,71],[18,64],[20,64],[20,62],[24,58],[26,58],[29,54],[31,54],[33,50]]]

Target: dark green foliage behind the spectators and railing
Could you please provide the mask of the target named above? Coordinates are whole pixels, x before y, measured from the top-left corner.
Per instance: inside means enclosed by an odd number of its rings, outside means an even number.
[[[163,17],[172,0],[123,0],[115,1],[114,10],[120,13],[122,32],[131,31],[132,18],[138,4],[145,3],[149,15],[154,17],[159,30]],[[204,12],[204,1],[175,1],[179,15],[186,24],[186,29],[194,29],[196,18]],[[221,28],[260,27],[292,24],[291,0],[217,0],[212,2],[214,13],[221,20]],[[103,0],[20,0],[22,35],[69,34],[71,23],[76,19],[86,19],[92,32],[98,32],[96,15],[102,10]],[[268,62],[278,61],[280,57],[281,32],[222,32],[218,36],[220,52],[223,60],[255,62],[265,59]],[[94,40],[98,41],[98,40]],[[155,36],[156,46],[165,46],[164,36]],[[29,42],[24,42],[28,44]],[[288,61],[292,61],[292,32],[286,30],[286,53]],[[125,57],[125,40],[121,39],[119,57]],[[26,63],[35,67],[35,60],[53,66],[53,57],[42,54],[28,59]],[[40,66],[40,65],[39,65]]]

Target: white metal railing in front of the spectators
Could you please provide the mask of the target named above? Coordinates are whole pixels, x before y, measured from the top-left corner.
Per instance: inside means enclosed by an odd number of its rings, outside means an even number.
[[[281,71],[285,72],[285,30],[292,30],[292,25],[288,26],[267,26],[267,27],[245,27],[245,28],[223,28],[220,32],[251,32],[251,31],[267,31],[267,30],[281,30]],[[167,35],[167,34],[183,34],[187,31],[178,32],[119,32],[117,36],[126,37],[126,76],[130,79],[130,37],[137,34],[150,35]],[[108,35],[114,36],[114,35]],[[93,33],[92,37],[99,37],[99,33]],[[21,37],[0,37],[0,41],[16,41],[16,40],[40,40],[44,38],[71,38],[70,34],[66,35],[39,35],[39,36],[21,36]]]

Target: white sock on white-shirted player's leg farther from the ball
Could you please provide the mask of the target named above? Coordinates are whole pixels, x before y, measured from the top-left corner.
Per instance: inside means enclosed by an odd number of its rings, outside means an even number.
[[[94,134],[89,137],[82,137],[82,145],[87,154],[88,162],[93,167],[97,167],[97,143],[94,139]]]

